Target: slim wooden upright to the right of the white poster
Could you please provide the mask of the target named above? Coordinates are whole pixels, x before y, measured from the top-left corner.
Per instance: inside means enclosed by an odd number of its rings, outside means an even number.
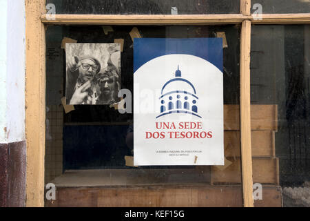
[[[243,21],[240,50],[240,140],[242,190],[245,207],[253,207],[253,171],[251,154],[251,100],[250,100],[251,21]]]

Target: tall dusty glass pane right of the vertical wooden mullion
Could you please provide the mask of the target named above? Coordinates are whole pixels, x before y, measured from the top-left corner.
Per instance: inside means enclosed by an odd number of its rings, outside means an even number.
[[[270,198],[256,206],[310,206],[309,46],[310,26],[252,26],[253,176]]]

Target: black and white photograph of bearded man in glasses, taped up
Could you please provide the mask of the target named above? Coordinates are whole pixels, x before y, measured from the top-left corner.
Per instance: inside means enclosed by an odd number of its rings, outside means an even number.
[[[114,104],[121,89],[120,44],[65,44],[65,97],[70,105]]]

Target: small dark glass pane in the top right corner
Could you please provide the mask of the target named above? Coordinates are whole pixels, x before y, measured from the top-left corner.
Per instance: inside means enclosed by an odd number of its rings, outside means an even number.
[[[281,13],[309,13],[309,0],[256,0],[251,1],[252,10],[262,9],[262,14],[281,14]],[[257,4],[260,4],[258,6]]]

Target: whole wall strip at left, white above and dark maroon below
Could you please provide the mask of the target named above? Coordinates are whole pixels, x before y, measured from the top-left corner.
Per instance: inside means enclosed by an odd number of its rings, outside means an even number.
[[[0,15],[0,206],[25,206],[25,1]]]

